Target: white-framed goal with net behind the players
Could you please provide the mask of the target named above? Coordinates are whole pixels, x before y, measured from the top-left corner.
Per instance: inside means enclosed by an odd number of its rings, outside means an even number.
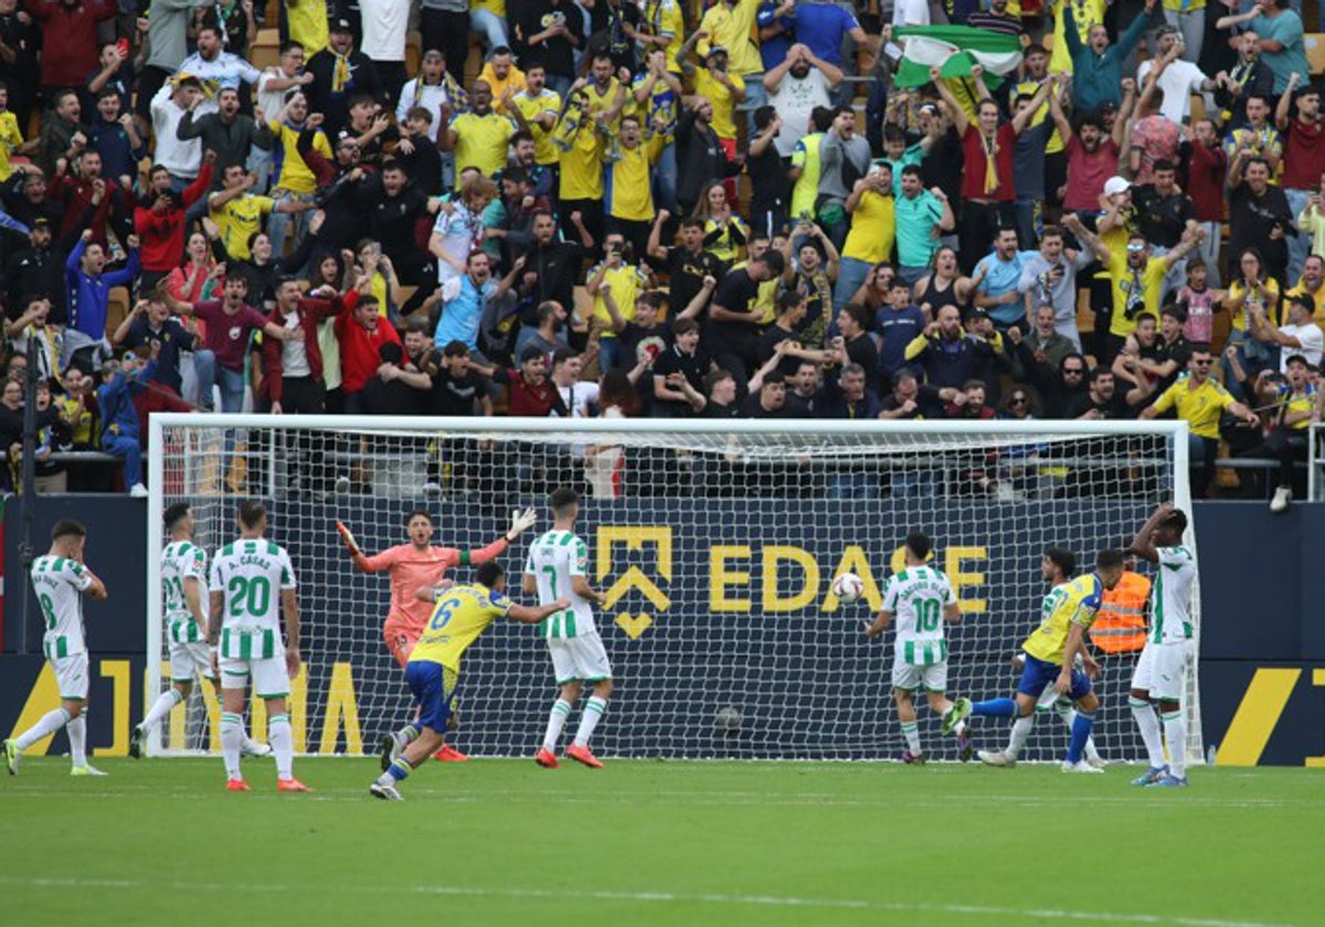
[[[196,540],[215,555],[236,536],[242,498],[262,499],[269,538],[298,579],[305,669],[292,686],[295,747],[374,752],[412,716],[404,674],[383,640],[391,580],[358,572],[337,535],[366,554],[407,543],[423,509],[435,544],[477,550],[513,509],[538,524],[501,555],[519,592],[529,543],[551,526],[547,494],[582,490],[576,532],[590,581],[607,593],[596,621],[616,693],[595,750],[606,756],[885,759],[904,742],[890,698],[892,634],[868,642],[886,577],[912,530],[934,539],[963,621],[949,628],[949,694],[1011,694],[1011,657],[1037,625],[1044,550],[1089,569],[1130,540],[1151,507],[1191,511],[1181,422],[761,422],[676,420],[403,418],[158,415],[151,418],[147,695],[170,685],[159,551],[162,512],[188,502]],[[1189,536],[1189,543],[1191,543]],[[832,577],[865,596],[841,604]],[[1149,565],[1141,565],[1149,571]],[[473,567],[448,573],[473,577]],[[1195,597],[1199,603],[1199,593]],[[1199,621],[1198,621],[1199,626]],[[1094,736],[1110,760],[1145,751],[1126,705],[1136,654],[1102,659]],[[152,663],[152,661],[150,661]],[[537,630],[497,622],[465,654],[453,743],[485,756],[531,755],[555,683]],[[1199,706],[1195,666],[1189,705]],[[576,707],[576,712],[579,707]],[[925,751],[954,757],[920,706]],[[1199,761],[1199,710],[1189,755]],[[977,746],[1002,748],[1008,726],[977,719]],[[261,707],[250,718],[265,738]],[[575,724],[575,716],[571,718]],[[211,750],[208,685],[175,710],[154,752]],[[574,730],[574,728],[571,728]],[[1039,715],[1023,759],[1055,759],[1057,715]]]

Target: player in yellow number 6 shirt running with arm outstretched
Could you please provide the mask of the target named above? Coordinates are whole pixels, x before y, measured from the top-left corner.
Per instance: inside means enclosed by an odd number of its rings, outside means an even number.
[[[506,571],[496,560],[478,567],[472,585],[424,587],[416,595],[436,601],[405,665],[405,682],[419,703],[419,719],[404,731],[404,750],[388,755],[386,771],[368,787],[374,796],[390,801],[401,800],[396,784],[441,747],[460,682],[460,658],[469,645],[496,618],[534,625],[571,607],[567,599],[538,608],[514,604],[506,599]]]

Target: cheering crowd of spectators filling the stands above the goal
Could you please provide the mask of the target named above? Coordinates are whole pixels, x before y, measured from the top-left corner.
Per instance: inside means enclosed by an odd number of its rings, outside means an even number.
[[[1293,0],[855,5],[0,0],[7,486],[30,372],[46,490],[101,450],[143,493],[163,409],[1178,415],[1198,495],[1231,448],[1287,505],[1325,323]],[[943,21],[1015,70],[897,86]]]

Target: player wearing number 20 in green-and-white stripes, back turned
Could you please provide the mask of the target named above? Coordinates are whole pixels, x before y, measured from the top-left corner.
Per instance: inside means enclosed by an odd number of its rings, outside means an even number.
[[[212,561],[211,622],[207,642],[217,646],[221,678],[221,755],[227,788],[249,792],[240,772],[244,746],[244,708],[249,682],[266,702],[266,740],[276,755],[277,789],[311,792],[294,777],[294,736],[285,699],[290,679],[299,673],[299,605],[294,567],[280,544],[266,540],[266,507],[241,502],[236,523],[238,540],[216,552]],[[281,614],[285,634],[281,641]]]

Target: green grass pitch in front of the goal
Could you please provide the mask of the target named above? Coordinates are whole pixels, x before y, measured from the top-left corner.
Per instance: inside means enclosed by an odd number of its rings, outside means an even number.
[[[1325,923],[1325,789],[1302,769],[529,760],[66,759],[0,773],[0,923]]]

